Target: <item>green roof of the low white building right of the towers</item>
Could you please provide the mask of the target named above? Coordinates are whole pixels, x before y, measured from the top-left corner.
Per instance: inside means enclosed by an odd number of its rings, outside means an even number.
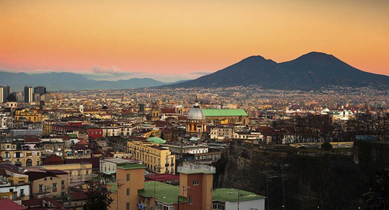
[[[221,202],[237,202],[238,195],[239,195],[239,201],[250,201],[250,200],[266,198],[264,196],[259,196],[254,193],[250,193],[243,190],[237,190],[233,188],[218,188],[213,191],[212,200],[221,201]]]

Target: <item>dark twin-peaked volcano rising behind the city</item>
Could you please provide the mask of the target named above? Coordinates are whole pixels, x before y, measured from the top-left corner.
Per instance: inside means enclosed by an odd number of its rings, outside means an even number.
[[[333,55],[310,52],[295,60],[276,63],[250,56],[209,75],[171,87],[234,87],[260,85],[270,89],[313,90],[329,85],[389,85],[389,77],[356,69]]]

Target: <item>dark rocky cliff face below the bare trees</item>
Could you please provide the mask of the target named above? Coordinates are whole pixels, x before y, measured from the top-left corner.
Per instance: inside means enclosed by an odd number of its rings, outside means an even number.
[[[364,175],[349,155],[233,141],[220,163],[215,187],[266,196],[269,209],[283,205],[283,189],[288,209],[358,209],[365,192]],[[302,196],[308,197],[301,202]]]

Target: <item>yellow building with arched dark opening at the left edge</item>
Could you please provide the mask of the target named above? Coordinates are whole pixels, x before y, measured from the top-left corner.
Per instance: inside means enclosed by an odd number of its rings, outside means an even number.
[[[0,156],[4,162],[11,162],[21,167],[39,166],[41,150],[21,148],[17,149],[15,144],[0,143]]]

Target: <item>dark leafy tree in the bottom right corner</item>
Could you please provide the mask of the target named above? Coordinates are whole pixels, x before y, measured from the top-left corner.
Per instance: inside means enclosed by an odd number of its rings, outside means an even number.
[[[367,204],[373,210],[389,209],[389,168],[378,171],[375,179],[369,181],[370,191],[364,194]]]

